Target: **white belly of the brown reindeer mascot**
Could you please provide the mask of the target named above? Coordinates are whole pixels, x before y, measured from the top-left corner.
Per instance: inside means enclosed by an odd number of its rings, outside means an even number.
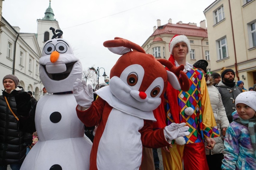
[[[143,119],[113,108],[99,141],[97,168],[139,169],[142,160],[139,130],[143,125]]]

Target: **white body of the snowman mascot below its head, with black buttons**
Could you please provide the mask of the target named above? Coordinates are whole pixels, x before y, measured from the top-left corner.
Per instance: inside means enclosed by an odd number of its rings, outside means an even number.
[[[35,126],[39,141],[21,170],[89,169],[92,142],[84,135],[76,105],[73,94],[46,95],[38,101]]]

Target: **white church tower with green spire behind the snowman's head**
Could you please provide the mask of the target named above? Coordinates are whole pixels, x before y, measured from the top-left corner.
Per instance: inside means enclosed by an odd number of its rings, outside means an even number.
[[[58,21],[54,19],[54,13],[51,8],[51,0],[49,3],[49,7],[46,9],[44,14],[45,15],[43,19],[37,19],[37,41],[41,52],[44,43],[50,40],[53,36],[50,27],[55,28],[55,30],[60,29]]]

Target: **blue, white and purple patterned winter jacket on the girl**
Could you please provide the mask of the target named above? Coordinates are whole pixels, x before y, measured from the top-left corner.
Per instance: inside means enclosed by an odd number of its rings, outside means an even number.
[[[237,113],[233,119],[237,119]],[[248,127],[239,122],[230,123],[224,140],[225,149],[223,151],[221,169],[256,169],[256,157],[251,144]]]

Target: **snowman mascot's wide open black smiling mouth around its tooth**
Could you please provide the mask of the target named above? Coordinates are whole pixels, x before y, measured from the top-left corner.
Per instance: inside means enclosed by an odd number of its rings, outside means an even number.
[[[66,71],[65,72],[61,72],[61,73],[48,73],[47,70],[46,70],[46,66],[45,65],[42,65],[44,67],[44,71],[46,72],[46,74],[48,75],[48,77],[52,80],[56,80],[56,81],[59,81],[59,80],[64,80],[65,78],[67,78],[70,74],[70,72],[72,71],[73,69],[73,66],[74,64],[76,63],[77,61],[74,61],[74,62],[71,62],[71,63],[66,63]]]

